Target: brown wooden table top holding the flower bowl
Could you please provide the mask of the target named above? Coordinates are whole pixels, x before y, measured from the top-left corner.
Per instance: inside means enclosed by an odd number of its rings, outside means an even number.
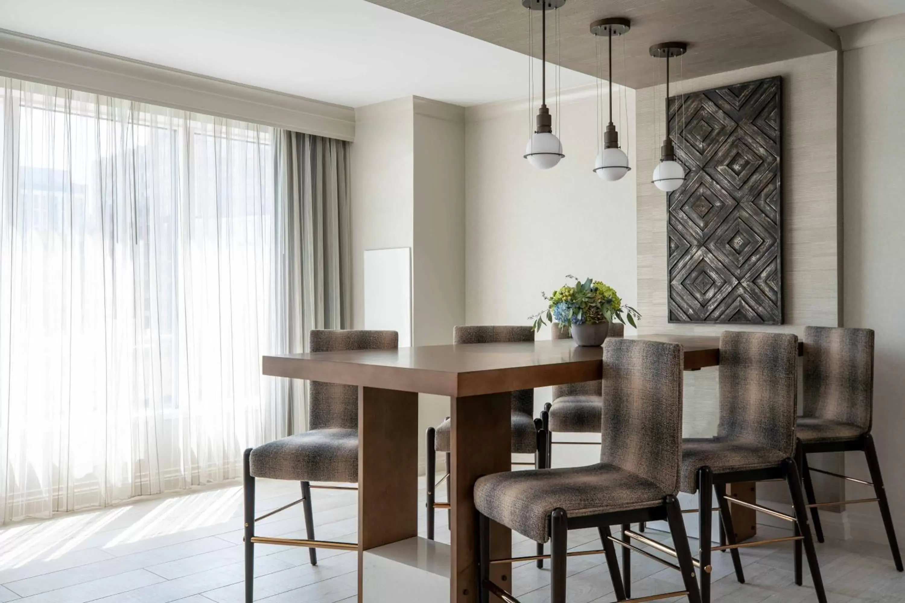
[[[681,344],[686,371],[719,364],[719,335],[637,334],[626,339]],[[462,397],[594,381],[603,375],[602,358],[601,346],[579,346],[571,339],[557,339],[267,355],[262,372]]]

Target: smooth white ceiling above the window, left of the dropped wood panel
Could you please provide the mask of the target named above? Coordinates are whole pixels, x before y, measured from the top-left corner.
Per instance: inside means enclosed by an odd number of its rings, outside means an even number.
[[[0,15],[14,32],[349,107],[527,93],[518,52],[365,0],[0,0]],[[562,88],[592,81],[562,70]]]

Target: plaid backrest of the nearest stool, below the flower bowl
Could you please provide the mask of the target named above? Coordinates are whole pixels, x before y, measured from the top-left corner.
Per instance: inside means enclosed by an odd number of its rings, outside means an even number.
[[[679,491],[680,344],[607,337],[600,461]]]

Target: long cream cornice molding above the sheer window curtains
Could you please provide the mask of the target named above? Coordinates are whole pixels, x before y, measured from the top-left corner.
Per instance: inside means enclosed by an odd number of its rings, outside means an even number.
[[[353,140],[355,110],[0,29],[0,75]]]

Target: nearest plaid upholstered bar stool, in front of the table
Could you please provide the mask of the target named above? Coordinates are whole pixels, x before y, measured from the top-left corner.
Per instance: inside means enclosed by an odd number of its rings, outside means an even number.
[[[685,589],[653,598],[688,598],[699,603],[700,594],[681,508],[679,491],[681,460],[682,349],[679,344],[607,339],[604,344],[604,403],[601,416],[603,444],[595,465],[559,469],[515,471],[483,476],[474,485],[479,513],[478,566],[480,600],[492,594],[508,603],[519,603],[491,580],[491,520],[550,544],[553,603],[566,603],[566,561],[572,554],[603,553],[620,601],[631,596],[631,551],[637,551],[681,572]],[[675,549],[650,541],[624,528],[621,539],[611,525],[666,519]],[[595,527],[600,551],[567,552],[567,532]],[[630,540],[631,539],[631,540]],[[638,544],[632,543],[632,540]],[[619,575],[615,544],[623,547],[623,576]],[[673,563],[642,548],[650,546],[678,561]],[[710,568],[705,568],[710,570]]]

